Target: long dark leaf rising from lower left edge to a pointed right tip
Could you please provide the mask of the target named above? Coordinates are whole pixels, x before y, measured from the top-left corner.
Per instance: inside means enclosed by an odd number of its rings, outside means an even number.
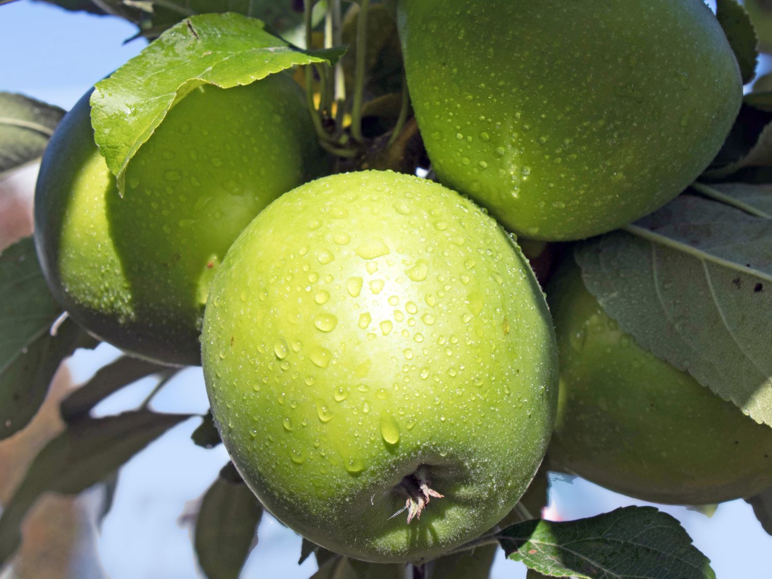
[[[191,415],[125,412],[67,426],[35,457],[0,516],[0,567],[19,547],[19,527],[42,493],[73,495],[116,471],[150,442]]]

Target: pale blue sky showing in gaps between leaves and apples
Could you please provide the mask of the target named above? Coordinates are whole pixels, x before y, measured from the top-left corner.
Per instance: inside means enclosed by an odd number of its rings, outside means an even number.
[[[64,12],[43,3],[13,2],[0,7],[0,90],[69,109],[89,89],[118,66],[135,56],[144,41],[123,44],[133,36],[133,25],[120,19]],[[767,69],[767,63],[763,65]],[[70,364],[76,382],[84,381],[101,364],[117,355],[111,347],[82,352]],[[97,412],[111,414],[138,405],[151,383],[144,381],[103,401]],[[157,395],[159,411],[204,413],[208,408],[201,371],[182,371]],[[80,569],[78,579],[189,579],[198,577],[187,528],[178,524],[185,503],[198,498],[227,461],[222,445],[200,449],[190,442],[198,425],[191,419],[172,429],[132,459],[120,471],[117,495],[100,532],[86,533],[99,553],[103,572]],[[93,489],[83,503],[94,508],[101,500]],[[613,510],[618,506],[644,505],[611,493],[581,479],[554,478],[550,514],[564,520]],[[682,507],[659,506],[682,521],[696,546],[712,561],[718,579],[769,579],[772,537],[761,529],[743,501],[719,506],[708,518]],[[266,516],[259,529],[259,546],[253,551],[242,577],[302,579],[316,569],[313,557],[298,567],[300,538]],[[499,557],[494,579],[522,579],[525,569]]]

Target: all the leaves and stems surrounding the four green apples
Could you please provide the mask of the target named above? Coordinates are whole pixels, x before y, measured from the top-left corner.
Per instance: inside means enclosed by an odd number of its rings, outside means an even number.
[[[123,181],[128,161],[191,90],[207,83],[249,84],[283,70],[291,70],[306,89],[317,137],[335,172],[425,168],[433,176],[404,80],[396,2],[46,2],[126,19],[137,25],[136,40],[130,40],[151,41],[97,83],[92,100],[96,141],[121,195],[130,195]],[[753,25],[734,0],[716,4],[743,82],[750,83],[758,56]],[[765,3],[751,5],[755,13]],[[770,16],[764,19],[766,30]],[[762,78],[755,86],[720,153],[683,195],[614,232],[534,252],[533,266],[544,281],[550,256],[574,252],[587,289],[642,347],[772,427],[772,83]],[[29,97],[0,93],[0,179],[39,159],[63,113]],[[5,249],[0,255],[0,439],[12,437],[36,415],[59,364],[76,349],[96,345],[53,300],[32,239]],[[177,371],[120,357],[63,400],[65,430],[36,455],[3,505],[0,569],[12,564],[22,521],[39,496],[80,493],[116,476],[168,428],[193,418],[154,411],[150,400],[118,415],[90,415],[113,392],[147,377],[157,381],[155,392]],[[192,442],[218,445],[212,415],[198,419]],[[772,533],[770,491],[747,501]],[[407,570],[403,564],[342,557],[307,540],[300,562],[316,557],[317,579],[404,577],[407,571],[413,577],[486,577],[500,547],[530,568],[529,577],[715,577],[679,523],[653,507],[555,523],[540,519],[546,503],[546,472],[540,471],[516,509],[489,533],[436,560],[408,564]],[[207,577],[238,577],[254,547],[259,557],[256,530],[262,512],[235,469],[226,465],[201,498],[193,537]]]

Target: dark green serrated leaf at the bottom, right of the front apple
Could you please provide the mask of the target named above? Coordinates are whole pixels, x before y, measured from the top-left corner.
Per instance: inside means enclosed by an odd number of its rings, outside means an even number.
[[[564,523],[531,520],[498,534],[506,556],[550,577],[715,579],[672,516],[628,506]]]

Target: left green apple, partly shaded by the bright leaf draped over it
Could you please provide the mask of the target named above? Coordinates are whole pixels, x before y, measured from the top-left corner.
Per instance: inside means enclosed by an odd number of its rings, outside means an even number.
[[[285,74],[181,100],[130,161],[120,198],[94,143],[89,94],[42,160],[35,239],[76,322],[131,354],[198,364],[208,286],[239,232],[319,172],[302,91]]]

